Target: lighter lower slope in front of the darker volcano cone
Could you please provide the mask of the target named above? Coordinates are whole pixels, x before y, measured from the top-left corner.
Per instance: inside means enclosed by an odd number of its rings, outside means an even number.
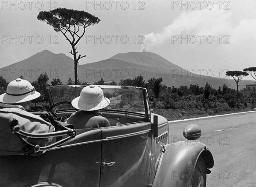
[[[99,81],[99,79],[103,77],[105,81],[113,80],[119,83],[121,79],[134,79],[138,75],[142,75],[145,82],[147,82],[149,78],[163,77],[163,85],[166,86],[179,87],[180,85],[190,86],[190,84],[204,86],[208,82],[216,89],[218,89],[218,86],[223,86],[223,84],[236,89],[236,83],[232,79],[200,76],[189,72],[187,72],[187,74],[172,74],[172,70],[170,69],[137,65],[116,59],[106,59],[81,65],[79,72],[83,74],[87,82]],[[81,78],[80,80],[83,79]],[[242,80],[239,83],[239,88],[245,88],[246,84],[253,84],[253,81]]]

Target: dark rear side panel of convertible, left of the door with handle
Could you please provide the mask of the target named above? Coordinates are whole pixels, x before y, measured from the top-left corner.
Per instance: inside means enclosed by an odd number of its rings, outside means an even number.
[[[99,187],[101,130],[76,131],[71,141],[42,155],[0,156],[0,186],[48,182],[63,187]]]

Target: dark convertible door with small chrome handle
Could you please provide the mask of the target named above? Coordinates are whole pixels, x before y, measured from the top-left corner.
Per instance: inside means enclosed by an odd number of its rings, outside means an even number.
[[[146,186],[151,167],[151,123],[102,128],[101,187]]]

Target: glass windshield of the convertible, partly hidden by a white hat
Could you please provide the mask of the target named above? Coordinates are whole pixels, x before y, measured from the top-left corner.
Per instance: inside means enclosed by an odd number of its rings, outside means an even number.
[[[81,90],[86,85],[79,86],[52,86],[50,87],[51,100],[50,106],[62,101],[71,102],[80,96]],[[128,111],[145,113],[143,90],[128,86],[100,86],[104,96],[110,100],[110,104],[104,110]],[[55,109],[73,109],[70,104],[61,104]]]

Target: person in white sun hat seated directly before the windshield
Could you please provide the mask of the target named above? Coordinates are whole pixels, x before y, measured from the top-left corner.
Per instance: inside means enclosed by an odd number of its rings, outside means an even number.
[[[72,101],[72,106],[80,111],[74,112],[67,123],[73,124],[75,129],[109,127],[108,119],[98,113],[99,109],[109,104],[109,99],[104,97],[99,86],[86,86],[82,89],[80,96]]]

